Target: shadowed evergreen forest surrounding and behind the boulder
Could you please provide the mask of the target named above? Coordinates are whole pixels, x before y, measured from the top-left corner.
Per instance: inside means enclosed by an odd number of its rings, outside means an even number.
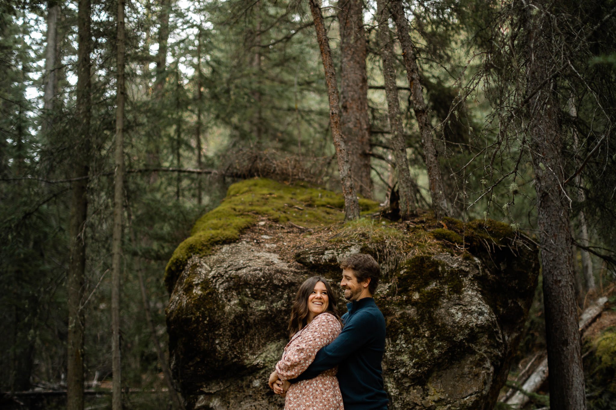
[[[489,218],[525,235],[542,275],[497,408],[546,350],[579,371],[523,408],[616,406],[614,1],[0,12],[0,406],[111,408],[116,383],[113,408],[181,408],[164,272],[230,184],[255,177],[341,192],[346,219],[360,197],[381,203],[362,218]],[[596,301],[610,315],[580,343]]]

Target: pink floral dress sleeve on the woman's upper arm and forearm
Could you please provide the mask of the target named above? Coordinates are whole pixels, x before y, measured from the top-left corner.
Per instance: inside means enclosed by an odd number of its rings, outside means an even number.
[[[286,348],[276,365],[278,377],[287,380],[299,376],[312,363],[318,350],[336,339],[340,329],[340,323],[330,313],[315,317]]]

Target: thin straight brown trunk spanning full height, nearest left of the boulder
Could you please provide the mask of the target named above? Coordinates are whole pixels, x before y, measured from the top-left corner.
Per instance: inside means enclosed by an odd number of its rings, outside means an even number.
[[[118,84],[115,135],[115,178],[113,189],[113,239],[111,240],[111,366],[113,370],[111,408],[122,408],[122,367],[120,358],[120,272],[122,257],[122,213],[124,197],[124,0],[118,0]]]

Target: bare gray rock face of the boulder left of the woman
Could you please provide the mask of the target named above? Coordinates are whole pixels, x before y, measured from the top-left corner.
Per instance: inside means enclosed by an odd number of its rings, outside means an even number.
[[[188,261],[167,308],[171,368],[187,408],[282,403],[266,377],[285,347],[289,307],[302,280],[277,254],[246,242]]]

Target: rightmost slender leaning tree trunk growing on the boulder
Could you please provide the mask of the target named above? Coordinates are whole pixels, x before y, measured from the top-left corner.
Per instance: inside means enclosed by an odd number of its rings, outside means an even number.
[[[392,0],[390,3],[392,17],[398,28],[398,37],[402,45],[402,57],[407,68],[408,84],[411,87],[411,98],[413,99],[413,112],[417,118],[419,132],[421,133],[421,146],[423,148],[424,161],[428,168],[428,179],[430,183],[430,195],[432,197],[432,209],[437,219],[452,214],[450,204],[445,196],[443,177],[440,173],[439,160],[436,155],[434,141],[432,141],[432,125],[428,115],[428,106],[423,99],[421,80],[419,79],[419,69],[415,61],[415,47],[408,34],[407,18],[404,15],[402,0]]]

